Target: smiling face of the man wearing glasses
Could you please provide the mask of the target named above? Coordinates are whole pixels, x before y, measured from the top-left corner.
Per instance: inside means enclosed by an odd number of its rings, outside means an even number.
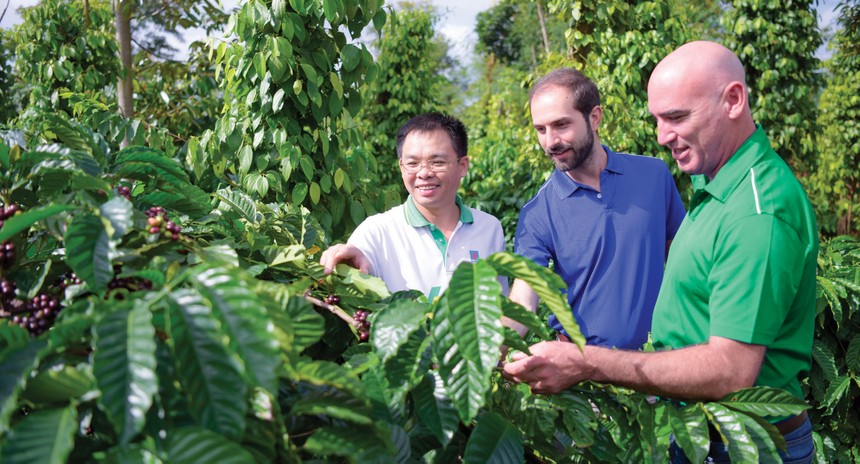
[[[430,170],[433,161],[448,162],[447,170]],[[451,138],[444,130],[410,132],[403,142],[400,162],[421,164],[421,169],[414,174],[401,166],[400,174],[412,201],[425,217],[442,214],[446,208],[457,208],[457,189],[469,168],[469,158],[457,158]]]

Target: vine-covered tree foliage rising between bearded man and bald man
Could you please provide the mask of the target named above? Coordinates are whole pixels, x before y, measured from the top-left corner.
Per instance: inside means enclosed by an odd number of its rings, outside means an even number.
[[[574,66],[600,89],[604,110],[601,141],[614,150],[660,156],[675,176],[682,198],[690,193],[670,154],[657,143],[648,113],[648,79],[657,63],[693,39],[687,10],[669,2],[551,2],[570,21],[567,44]],[[707,33],[707,32],[706,32]],[[550,68],[558,63],[548,63]]]

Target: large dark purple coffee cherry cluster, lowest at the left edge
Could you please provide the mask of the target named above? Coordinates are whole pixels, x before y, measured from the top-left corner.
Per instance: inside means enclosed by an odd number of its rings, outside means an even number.
[[[0,280],[0,317],[27,329],[32,335],[48,330],[57,313],[63,309],[59,299],[46,293],[40,293],[29,301],[16,298],[16,293],[15,282]]]

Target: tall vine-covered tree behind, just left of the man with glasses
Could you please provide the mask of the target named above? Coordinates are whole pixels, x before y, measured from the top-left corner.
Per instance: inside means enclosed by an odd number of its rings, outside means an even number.
[[[189,143],[195,177],[312,208],[334,237],[385,208],[373,154],[348,152],[366,136],[353,118],[378,69],[346,36],[355,41],[385,20],[382,0],[243,3],[230,20],[236,40],[213,50],[225,108],[213,130]]]

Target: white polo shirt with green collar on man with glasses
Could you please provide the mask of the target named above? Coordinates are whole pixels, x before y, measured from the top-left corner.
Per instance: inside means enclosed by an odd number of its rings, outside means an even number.
[[[505,251],[499,220],[463,206],[459,196],[456,202],[460,221],[450,241],[421,215],[410,196],[402,205],[365,219],[348,243],[364,253],[370,274],[382,279],[388,290],[420,290],[433,300],[448,288],[460,263]],[[507,294],[507,278],[499,281]]]

